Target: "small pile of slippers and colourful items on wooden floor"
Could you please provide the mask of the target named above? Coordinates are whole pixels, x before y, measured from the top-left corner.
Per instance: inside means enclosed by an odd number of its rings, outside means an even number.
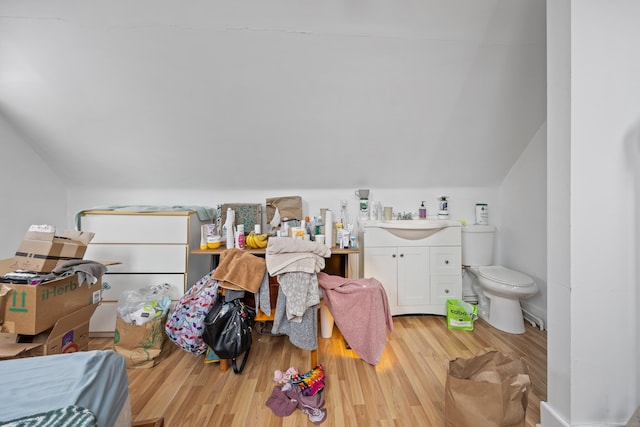
[[[273,391],[266,405],[279,417],[287,417],[297,409],[309,416],[309,421],[321,424],[327,418],[324,408],[325,375],[322,365],[305,374],[291,367],[285,372],[274,372]]]

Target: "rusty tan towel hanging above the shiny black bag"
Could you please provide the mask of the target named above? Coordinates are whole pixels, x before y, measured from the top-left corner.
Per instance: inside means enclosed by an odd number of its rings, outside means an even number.
[[[265,270],[264,258],[231,248],[220,254],[220,263],[211,278],[222,288],[256,293]]]

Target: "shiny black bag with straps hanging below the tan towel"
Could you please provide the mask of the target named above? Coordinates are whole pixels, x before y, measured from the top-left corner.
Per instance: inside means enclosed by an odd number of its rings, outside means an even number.
[[[203,341],[221,359],[231,359],[233,372],[236,374],[242,372],[249,357],[255,316],[255,309],[240,299],[225,301],[224,297],[219,296],[204,319]],[[243,353],[244,357],[238,368],[236,358]]]

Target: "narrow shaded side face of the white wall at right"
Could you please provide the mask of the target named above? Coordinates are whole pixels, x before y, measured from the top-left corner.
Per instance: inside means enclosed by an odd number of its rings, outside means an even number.
[[[571,0],[547,2],[547,402],[543,426],[565,426],[571,405]]]

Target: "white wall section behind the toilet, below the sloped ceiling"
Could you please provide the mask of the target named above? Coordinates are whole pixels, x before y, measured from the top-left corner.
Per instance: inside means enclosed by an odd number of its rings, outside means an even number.
[[[498,263],[533,278],[540,292],[522,306],[547,317],[547,127],[542,126],[500,186]]]

